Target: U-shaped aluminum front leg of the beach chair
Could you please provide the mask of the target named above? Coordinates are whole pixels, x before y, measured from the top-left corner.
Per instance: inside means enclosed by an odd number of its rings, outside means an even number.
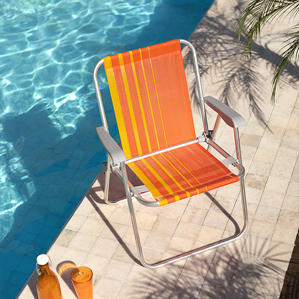
[[[138,256],[139,256],[140,262],[146,268],[156,269],[156,268],[168,265],[168,264],[172,264],[172,263],[177,262],[179,260],[188,258],[190,256],[196,255],[198,253],[201,253],[201,252],[204,252],[204,251],[207,251],[207,250],[225,245],[227,243],[236,241],[244,235],[244,233],[245,233],[245,231],[248,227],[245,188],[244,188],[244,180],[242,178],[240,180],[240,187],[241,187],[242,208],[243,208],[243,215],[244,215],[244,227],[238,235],[231,236],[231,237],[225,238],[223,240],[213,242],[213,243],[208,244],[206,246],[202,246],[202,247],[196,248],[194,250],[184,252],[180,255],[176,255],[174,257],[171,257],[169,259],[166,259],[166,260],[154,263],[154,264],[148,264],[144,259],[144,255],[143,255],[143,251],[142,251],[142,246],[141,246],[141,241],[140,241],[140,237],[139,237],[139,233],[138,233],[137,222],[136,222],[136,217],[135,217],[135,213],[134,213],[134,207],[133,207],[132,197],[131,197],[131,193],[130,193],[130,186],[129,186],[129,182],[128,182],[128,175],[127,175],[127,170],[126,170],[125,163],[121,163],[121,170],[122,170],[123,178],[124,178],[124,185],[125,185],[126,195],[127,195],[127,199],[128,199],[128,206],[129,206],[129,211],[130,211],[130,215],[131,215],[131,220],[132,220],[132,225],[133,225],[133,230],[134,230],[134,236],[135,236],[136,245],[137,245]]]

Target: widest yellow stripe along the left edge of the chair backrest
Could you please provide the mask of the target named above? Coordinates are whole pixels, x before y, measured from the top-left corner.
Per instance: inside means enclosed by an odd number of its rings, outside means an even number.
[[[130,150],[130,146],[129,146],[127,130],[126,130],[126,126],[125,126],[124,116],[123,116],[123,112],[122,112],[121,102],[120,102],[120,98],[119,98],[119,94],[118,94],[118,90],[117,90],[117,84],[116,84],[110,56],[107,56],[104,58],[104,65],[105,65],[105,69],[106,69],[107,79],[109,82],[111,98],[113,99],[113,105],[115,106],[115,109],[114,109],[115,117],[118,121],[118,127],[120,130],[120,134],[121,134],[121,136],[124,136],[124,138],[122,139],[122,146],[123,146],[124,151],[126,152],[127,158],[131,158],[132,154],[131,154],[131,150]]]

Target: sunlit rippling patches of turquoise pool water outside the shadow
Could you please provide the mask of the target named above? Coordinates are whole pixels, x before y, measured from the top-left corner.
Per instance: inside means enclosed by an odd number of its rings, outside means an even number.
[[[72,135],[78,121],[96,105],[89,101],[96,59],[122,51],[128,39],[134,42],[160,2],[2,0],[1,122],[43,105],[60,139]],[[106,78],[99,80],[106,86]],[[35,190],[19,156],[20,143],[0,143],[0,241],[16,207]],[[22,183],[16,184],[16,179]]]

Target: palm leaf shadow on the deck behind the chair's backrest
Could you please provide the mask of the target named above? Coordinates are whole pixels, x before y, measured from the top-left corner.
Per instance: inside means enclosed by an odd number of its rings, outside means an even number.
[[[280,58],[270,49],[270,44],[277,40],[283,41],[283,36],[269,34],[264,36],[263,40],[267,42],[263,42],[263,44],[253,41],[252,58],[247,60],[241,54],[242,47],[237,41],[235,31],[238,15],[245,4],[245,1],[236,1],[230,11],[232,15],[229,17],[210,9],[190,36],[189,41],[197,51],[200,75],[208,76],[212,81],[217,80],[211,84],[219,86],[220,100],[228,106],[234,107],[236,100],[242,99],[244,104],[247,104],[253,111],[259,124],[270,130],[261,105],[270,103],[271,96],[268,93],[266,95],[262,90],[268,79],[269,71],[274,73],[275,61]],[[193,72],[191,52],[185,49],[184,51],[186,74],[192,78],[189,90],[191,103],[199,110],[195,78],[190,75]],[[259,72],[260,65],[266,66],[267,71]],[[285,84],[289,84],[296,88],[298,80],[299,66],[296,61],[292,61],[283,71],[279,86],[283,87]]]

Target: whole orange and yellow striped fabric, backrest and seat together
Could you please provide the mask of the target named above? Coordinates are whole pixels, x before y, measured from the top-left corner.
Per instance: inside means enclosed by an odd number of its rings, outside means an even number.
[[[196,139],[180,41],[104,58],[127,159]],[[235,182],[199,144],[128,163],[160,205]]]

